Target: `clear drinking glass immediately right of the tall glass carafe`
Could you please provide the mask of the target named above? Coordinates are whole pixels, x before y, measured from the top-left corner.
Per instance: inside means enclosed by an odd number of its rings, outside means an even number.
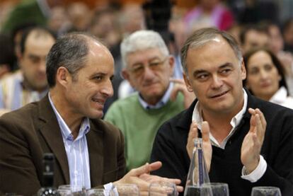
[[[229,196],[229,188],[226,183],[205,183],[200,189],[200,195],[205,196]]]

